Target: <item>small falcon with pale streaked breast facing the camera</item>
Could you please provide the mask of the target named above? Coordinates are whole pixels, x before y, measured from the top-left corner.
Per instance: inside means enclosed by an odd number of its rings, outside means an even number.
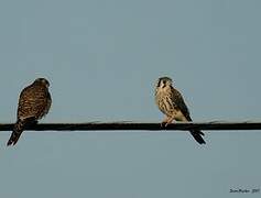
[[[155,101],[159,109],[166,116],[162,125],[176,121],[192,121],[189,111],[184,102],[184,99],[178,90],[172,86],[172,79],[168,77],[161,77],[157,79],[155,88]],[[199,143],[205,144],[204,133],[199,130],[191,130],[193,138]]]

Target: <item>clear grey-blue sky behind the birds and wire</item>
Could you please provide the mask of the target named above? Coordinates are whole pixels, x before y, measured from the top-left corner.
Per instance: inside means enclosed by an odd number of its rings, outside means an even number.
[[[1,0],[0,122],[22,88],[51,82],[42,122],[161,121],[173,78],[195,121],[261,120],[259,0]],[[220,198],[261,188],[261,133],[25,132],[6,147],[2,198]],[[247,194],[243,197],[260,197]]]

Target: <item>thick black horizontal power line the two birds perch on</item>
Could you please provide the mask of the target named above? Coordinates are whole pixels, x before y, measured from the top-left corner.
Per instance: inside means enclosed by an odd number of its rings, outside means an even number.
[[[11,131],[13,123],[0,123],[0,131]],[[29,127],[28,131],[187,131],[192,129],[211,131],[261,130],[261,122],[177,122],[166,128],[156,122],[84,122],[84,123],[41,123]]]

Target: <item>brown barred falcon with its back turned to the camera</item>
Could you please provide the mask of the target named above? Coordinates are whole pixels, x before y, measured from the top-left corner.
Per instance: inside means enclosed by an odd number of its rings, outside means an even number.
[[[48,92],[50,82],[37,78],[25,87],[19,98],[17,123],[7,145],[15,145],[23,130],[43,118],[50,110],[52,99]]]

